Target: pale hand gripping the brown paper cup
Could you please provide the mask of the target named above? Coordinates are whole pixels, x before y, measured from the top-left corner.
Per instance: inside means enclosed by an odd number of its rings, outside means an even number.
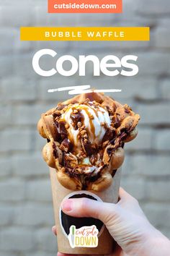
[[[61,208],[69,216],[99,218],[120,246],[112,256],[170,255],[169,239],[149,223],[138,201],[122,188],[117,204],[79,198],[64,200]],[[55,226],[53,232],[57,233]],[[58,252],[58,256],[65,255]]]

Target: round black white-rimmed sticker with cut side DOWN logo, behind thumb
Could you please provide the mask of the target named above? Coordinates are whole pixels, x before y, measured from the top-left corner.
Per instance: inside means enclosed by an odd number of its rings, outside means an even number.
[[[97,195],[86,190],[68,194],[63,199],[86,197],[102,202]],[[104,223],[97,218],[76,218],[59,210],[59,218],[63,234],[68,237],[71,247],[97,247],[98,237],[104,230]]]

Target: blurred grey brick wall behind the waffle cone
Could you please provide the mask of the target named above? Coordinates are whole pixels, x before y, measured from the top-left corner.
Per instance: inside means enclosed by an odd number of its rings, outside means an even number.
[[[48,88],[90,84],[121,88],[112,94],[140,114],[138,138],[126,145],[122,187],[148,219],[170,237],[170,1],[124,0],[123,14],[47,14],[46,0],[0,1],[0,256],[53,256],[57,252],[45,145],[36,124],[43,111],[68,98]],[[149,42],[21,42],[20,26],[150,26]],[[58,56],[138,56],[135,77],[40,77],[32,56],[52,48]],[[42,67],[53,67],[42,58]]]

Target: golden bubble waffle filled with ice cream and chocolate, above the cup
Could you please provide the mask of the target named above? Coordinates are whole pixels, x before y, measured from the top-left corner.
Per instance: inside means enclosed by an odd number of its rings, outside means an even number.
[[[84,93],[42,114],[48,140],[42,150],[58,181],[71,190],[102,191],[124,160],[124,144],[137,135],[140,116],[102,93]]]

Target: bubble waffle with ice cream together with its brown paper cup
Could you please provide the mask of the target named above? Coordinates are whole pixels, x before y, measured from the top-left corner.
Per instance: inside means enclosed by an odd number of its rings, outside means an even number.
[[[128,105],[102,93],[78,95],[42,114],[37,129],[48,140],[42,155],[50,166],[59,252],[114,252],[116,244],[102,221],[68,216],[61,202],[77,197],[117,202],[124,144],[137,135],[139,118]],[[97,236],[86,237],[86,229],[95,229]],[[92,241],[97,243],[89,244]]]

